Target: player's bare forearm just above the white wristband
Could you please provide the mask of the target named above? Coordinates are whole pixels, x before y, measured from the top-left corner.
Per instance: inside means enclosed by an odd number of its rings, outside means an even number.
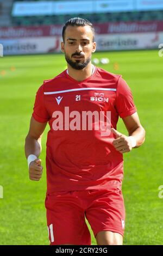
[[[30,155],[36,155],[39,158],[41,153],[41,137],[35,139],[34,137],[27,135],[25,143],[25,154],[26,158]]]

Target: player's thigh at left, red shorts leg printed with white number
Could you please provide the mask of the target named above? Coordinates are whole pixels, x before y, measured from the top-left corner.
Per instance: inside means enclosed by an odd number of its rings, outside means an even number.
[[[90,245],[90,232],[75,192],[55,192],[46,197],[45,206],[51,245]]]

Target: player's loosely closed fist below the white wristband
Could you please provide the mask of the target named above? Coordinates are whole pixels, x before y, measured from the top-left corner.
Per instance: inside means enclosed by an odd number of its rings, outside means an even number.
[[[43,167],[41,166],[41,159],[36,159],[29,164],[29,179],[39,181],[42,176]]]

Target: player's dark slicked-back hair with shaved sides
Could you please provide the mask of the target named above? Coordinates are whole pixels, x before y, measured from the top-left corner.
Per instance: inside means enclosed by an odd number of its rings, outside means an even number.
[[[75,17],[75,18],[72,18],[68,21],[66,21],[63,29],[62,29],[62,39],[63,41],[65,42],[65,30],[66,30],[66,27],[67,26],[77,26],[77,27],[84,27],[84,26],[90,26],[91,29],[92,29],[92,32],[93,32],[93,42],[95,40],[95,28],[93,27],[92,23],[86,19],[82,19],[82,18],[79,18],[79,17]]]

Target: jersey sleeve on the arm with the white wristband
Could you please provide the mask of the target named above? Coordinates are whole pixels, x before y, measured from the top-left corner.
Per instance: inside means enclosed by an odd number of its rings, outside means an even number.
[[[32,116],[40,123],[46,123],[50,118],[45,107],[43,85],[37,90]]]

